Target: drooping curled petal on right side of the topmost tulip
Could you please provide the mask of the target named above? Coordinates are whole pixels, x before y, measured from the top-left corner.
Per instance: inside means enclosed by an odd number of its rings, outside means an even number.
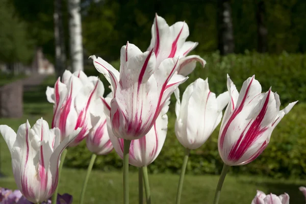
[[[183,57],[180,59],[180,66],[177,69],[178,74],[187,76],[190,74],[196,67],[196,62],[199,62],[202,67],[206,65],[206,61],[200,58],[198,55],[190,55],[188,57]]]

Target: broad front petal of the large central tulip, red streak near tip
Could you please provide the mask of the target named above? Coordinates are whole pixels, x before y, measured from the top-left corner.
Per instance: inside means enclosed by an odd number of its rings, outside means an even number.
[[[111,120],[117,127],[126,127],[127,135],[139,137],[149,131],[144,127],[151,127],[155,120],[156,109],[150,107],[159,107],[157,82],[151,77],[155,69],[155,57],[152,52],[145,52],[131,57],[127,65],[129,74],[124,76],[125,71],[122,75],[120,73],[120,86],[111,103]],[[141,69],[137,69],[139,67]],[[117,137],[121,137],[119,135],[122,134],[116,133]]]

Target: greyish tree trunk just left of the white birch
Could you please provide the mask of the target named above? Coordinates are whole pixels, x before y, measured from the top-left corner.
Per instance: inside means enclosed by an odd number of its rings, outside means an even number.
[[[55,71],[62,77],[66,69],[65,36],[62,18],[62,0],[54,0]]]

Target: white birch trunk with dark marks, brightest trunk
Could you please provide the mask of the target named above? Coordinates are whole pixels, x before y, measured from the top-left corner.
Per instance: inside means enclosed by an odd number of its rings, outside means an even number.
[[[73,71],[84,70],[80,0],[68,0],[70,55]]]

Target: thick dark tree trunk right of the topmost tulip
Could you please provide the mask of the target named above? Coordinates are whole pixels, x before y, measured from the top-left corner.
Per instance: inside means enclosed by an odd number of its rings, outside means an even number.
[[[234,34],[230,0],[218,0],[218,49],[221,55],[234,53]]]

